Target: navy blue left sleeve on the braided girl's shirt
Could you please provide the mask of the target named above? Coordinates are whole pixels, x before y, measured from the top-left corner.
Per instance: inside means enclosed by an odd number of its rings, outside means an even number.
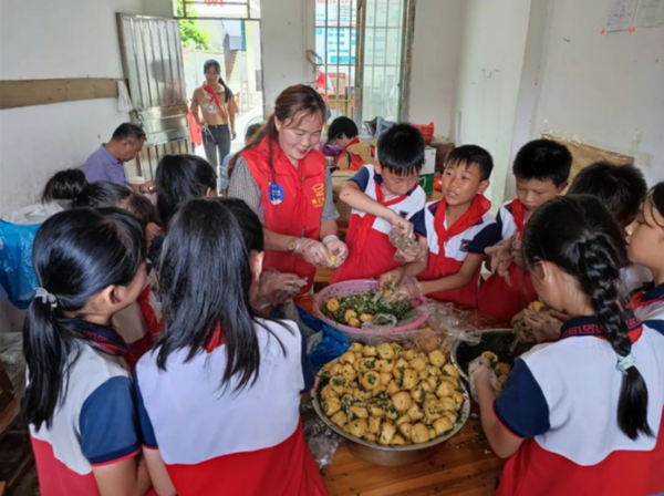
[[[535,437],[551,428],[544,394],[521,359],[517,359],[494,411],[500,423],[519,437]]]

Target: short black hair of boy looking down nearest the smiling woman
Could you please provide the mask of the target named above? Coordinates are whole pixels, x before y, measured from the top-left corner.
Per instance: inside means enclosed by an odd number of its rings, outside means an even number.
[[[411,124],[395,124],[378,138],[378,164],[397,176],[424,167],[424,140]]]

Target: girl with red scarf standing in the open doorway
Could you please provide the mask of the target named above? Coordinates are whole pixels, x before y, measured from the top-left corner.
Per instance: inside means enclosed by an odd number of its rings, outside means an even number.
[[[194,91],[191,114],[203,128],[203,147],[208,162],[217,169],[230,153],[230,142],[237,137],[235,121],[239,112],[232,91],[221,79],[216,60],[204,65],[205,83]],[[203,112],[203,118],[198,110]]]

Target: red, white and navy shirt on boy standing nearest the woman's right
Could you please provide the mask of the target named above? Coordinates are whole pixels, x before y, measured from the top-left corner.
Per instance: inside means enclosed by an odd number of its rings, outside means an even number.
[[[426,193],[419,185],[405,195],[385,200],[383,176],[376,174],[373,165],[365,165],[350,180],[355,183],[366,196],[405,219],[411,219],[413,215],[424,208],[426,203]],[[387,220],[353,208],[346,234],[349,257],[334,271],[330,283],[378,278],[383,273],[401,267],[401,264],[394,260],[396,248],[390,242],[391,230],[392,226]]]

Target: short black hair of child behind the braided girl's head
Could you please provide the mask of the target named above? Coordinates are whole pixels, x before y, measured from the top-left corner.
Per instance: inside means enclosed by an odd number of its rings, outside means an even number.
[[[599,198],[619,224],[633,219],[647,194],[643,173],[633,165],[596,162],[581,170],[568,192]]]

